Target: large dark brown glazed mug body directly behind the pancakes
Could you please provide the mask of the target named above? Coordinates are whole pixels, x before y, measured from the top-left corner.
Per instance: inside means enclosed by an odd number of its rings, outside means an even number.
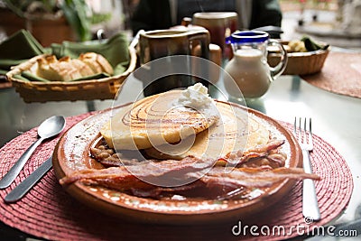
[[[179,70],[190,72],[192,64],[190,62],[171,63],[169,61],[162,62],[162,65],[148,64],[153,60],[170,56],[194,55],[197,49],[197,56],[203,59],[209,59],[209,32],[206,29],[194,31],[185,30],[155,30],[142,32],[139,36],[139,60],[141,66],[147,66],[148,74],[154,77],[152,81],[143,82],[144,96],[150,96],[172,88],[185,88],[193,85],[201,80],[195,79],[191,75],[171,74],[162,78],[157,78],[162,71],[174,69],[174,73]],[[165,64],[164,64],[165,63]],[[208,85],[208,81],[202,82]]]

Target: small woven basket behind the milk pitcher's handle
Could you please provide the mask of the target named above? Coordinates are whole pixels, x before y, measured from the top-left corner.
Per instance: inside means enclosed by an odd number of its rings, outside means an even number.
[[[288,62],[283,75],[309,75],[318,73],[329,55],[329,50],[287,53]],[[269,53],[268,64],[274,67],[280,60],[280,53]]]

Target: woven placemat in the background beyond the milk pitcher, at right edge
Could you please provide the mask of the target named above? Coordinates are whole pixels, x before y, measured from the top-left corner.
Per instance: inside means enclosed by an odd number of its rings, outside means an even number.
[[[315,87],[361,98],[361,53],[330,51],[319,73],[301,78]]]

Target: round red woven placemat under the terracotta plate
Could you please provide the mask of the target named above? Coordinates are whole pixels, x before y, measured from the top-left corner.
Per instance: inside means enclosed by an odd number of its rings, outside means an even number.
[[[89,114],[68,117],[67,128],[87,116]],[[290,124],[283,125],[292,128]],[[0,177],[5,175],[35,139],[36,128],[14,138],[0,149]],[[353,190],[347,162],[332,146],[315,136],[315,149],[311,153],[311,159],[314,171],[322,179],[316,183],[322,219],[310,224],[305,222],[301,214],[301,182],[297,182],[291,192],[272,209],[255,214],[253,218],[199,226],[194,226],[191,220],[190,226],[166,226],[136,224],[122,218],[108,217],[71,198],[62,190],[53,170],[23,199],[14,204],[5,204],[5,195],[51,155],[56,143],[57,139],[53,139],[42,144],[14,183],[9,188],[0,190],[1,221],[25,233],[51,240],[279,240],[307,233],[308,230],[326,225],[337,218],[346,208]],[[257,226],[259,236],[251,236],[249,228],[242,229],[247,236],[243,232],[235,236],[232,228],[237,233],[239,225],[242,228]],[[303,227],[300,230],[294,228],[300,226]],[[278,228],[273,236],[263,235],[272,233],[273,227]],[[282,231],[277,232],[281,227],[284,228],[284,235]]]

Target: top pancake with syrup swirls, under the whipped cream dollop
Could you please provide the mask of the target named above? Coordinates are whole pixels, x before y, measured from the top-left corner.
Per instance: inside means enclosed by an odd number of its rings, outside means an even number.
[[[184,93],[171,90],[122,108],[100,130],[106,144],[116,150],[190,147],[196,134],[216,123],[219,116],[213,100],[198,108],[181,105]]]

